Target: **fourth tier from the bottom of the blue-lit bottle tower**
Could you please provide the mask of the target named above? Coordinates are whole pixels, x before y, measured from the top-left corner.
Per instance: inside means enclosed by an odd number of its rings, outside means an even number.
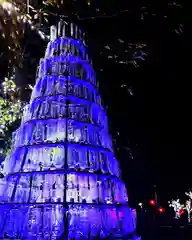
[[[15,132],[13,146],[16,148],[34,144],[59,143],[65,140],[112,150],[111,138],[105,129],[68,119],[26,122]]]

